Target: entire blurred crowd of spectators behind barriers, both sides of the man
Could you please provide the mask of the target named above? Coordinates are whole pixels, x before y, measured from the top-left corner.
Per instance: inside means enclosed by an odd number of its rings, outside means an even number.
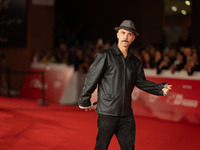
[[[191,46],[174,45],[161,49],[154,45],[147,45],[142,48],[130,48],[130,52],[143,62],[144,68],[156,69],[157,74],[162,70],[170,70],[171,73],[186,70],[188,75],[194,71],[200,71],[200,50]],[[76,71],[86,73],[93,62],[97,52],[110,47],[110,43],[104,43],[99,38],[96,43],[89,43],[85,48],[68,47],[65,43],[52,51],[36,49],[33,54],[33,63],[65,63],[74,65]]]

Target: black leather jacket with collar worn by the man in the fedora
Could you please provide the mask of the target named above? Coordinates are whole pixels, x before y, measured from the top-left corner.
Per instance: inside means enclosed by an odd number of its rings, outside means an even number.
[[[96,54],[88,71],[78,105],[91,106],[90,98],[98,85],[96,112],[127,116],[132,113],[131,94],[134,86],[155,95],[163,95],[165,83],[145,79],[142,63],[128,52],[126,59],[116,44]]]

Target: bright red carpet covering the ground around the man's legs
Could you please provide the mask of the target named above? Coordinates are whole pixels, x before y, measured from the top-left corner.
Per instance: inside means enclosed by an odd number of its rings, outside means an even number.
[[[200,150],[200,126],[135,117],[136,150]],[[0,97],[0,150],[93,150],[97,114]],[[116,138],[109,150],[119,150]]]

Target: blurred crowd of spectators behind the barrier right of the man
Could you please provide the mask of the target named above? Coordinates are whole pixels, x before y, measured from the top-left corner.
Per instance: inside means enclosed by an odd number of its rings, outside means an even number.
[[[170,70],[171,73],[186,70],[188,75],[200,71],[199,52],[199,49],[188,45],[174,45],[165,49],[148,45],[133,50],[133,54],[143,62],[143,67],[156,69],[157,74],[162,70]]]

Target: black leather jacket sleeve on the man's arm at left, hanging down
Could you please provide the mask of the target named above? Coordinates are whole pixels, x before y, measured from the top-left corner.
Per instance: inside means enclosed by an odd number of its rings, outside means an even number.
[[[103,68],[105,64],[106,56],[102,53],[95,55],[94,62],[91,64],[87,77],[85,79],[84,87],[81,92],[78,105],[82,107],[91,106],[90,98],[92,93],[97,87],[101,76],[103,74]]]

